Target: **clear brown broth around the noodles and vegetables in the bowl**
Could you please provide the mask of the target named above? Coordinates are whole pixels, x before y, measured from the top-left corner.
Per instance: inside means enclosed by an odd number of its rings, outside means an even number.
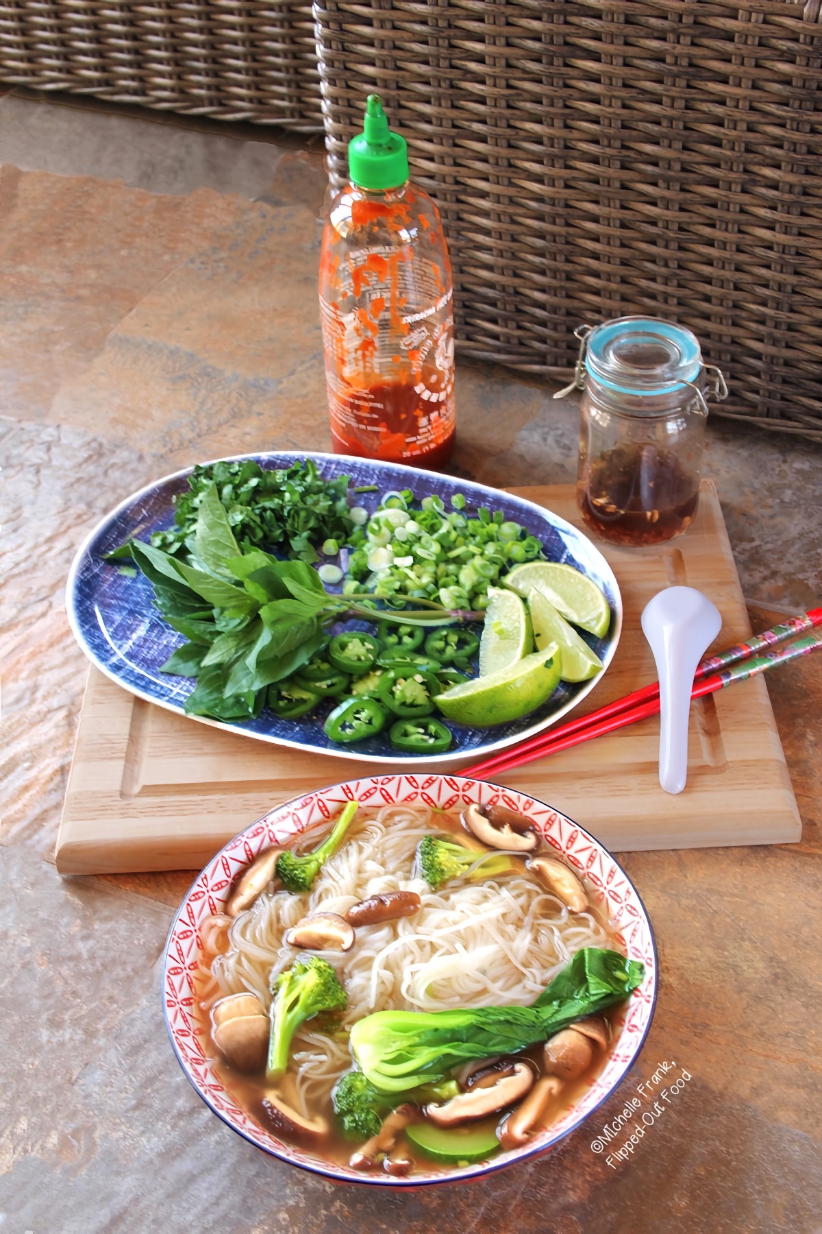
[[[433,834],[436,833],[451,834],[458,837],[460,842],[465,844],[467,848],[476,847],[477,851],[484,850],[484,845],[476,842],[473,837],[471,837],[466,832],[458,817],[444,813],[439,816],[436,822],[437,826],[436,829],[433,829]],[[306,848],[313,848],[313,845],[318,843],[318,840],[328,829],[329,829],[328,826],[324,824],[322,828],[313,829],[311,833],[304,833],[303,835],[299,837],[299,843],[298,845],[295,845],[295,849],[303,850]],[[523,863],[523,872],[527,872],[525,863]],[[600,922],[600,924],[604,926],[605,929],[608,929],[609,933],[611,933],[610,923],[608,922],[608,918],[605,913],[601,911],[601,908],[599,908],[595,905],[590,905],[589,911],[590,914],[595,917]],[[202,1035],[203,1049],[206,1054],[213,1060],[214,1071],[217,1076],[219,1077],[221,1082],[226,1086],[226,1088],[228,1088],[228,1091],[232,1093],[234,1101],[237,1101],[237,1103],[249,1114],[249,1117],[253,1118],[264,1130],[271,1132],[272,1129],[265,1117],[261,1104],[262,1098],[265,1097],[266,1091],[270,1087],[266,1083],[265,1070],[261,1070],[258,1075],[246,1075],[237,1071],[223,1059],[211,1034],[211,1016],[207,1011],[203,1009],[201,997],[197,997],[198,980],[202,980],[200,975],[198,977],[195,977],[195,998],[196,998],[196,1011],[203,1033]],[[601,1013],[601,1017],[606,1019],[609,1023],[609,1034],[612,1041],[616,1029],[621,1023],[622,1008],[619,1006],[611,1008],[610,1011]],[[574,1080],[566,1081],[563,1083],[562,1091],[550,1103],[542,1118],[540,1119],[540,1123],[535,1128],[535,1134],[550,1128],[551,1124],[556,1122],[556,1119],[560,1117],[563,1109],[566,1109],[569,1104],[580,1098],[585,1092],[585,1090],[590,1087],[592,1082],[595,1080],[595,1077],[600,1074],[600,1071],[605,1066],[605,1062],[608,1061],[610,1054],[610,1046],[604,1050],[595,1043],[592,1044],[594,1046],[594,1053],[590,1066],[585,1071],[583,1071],[582,1075],[577,1076]],[[524,1059],[529,1060],[537,1076],[541,1076],[543,1074],[541,1044],[532,1045],[525,1050],[521,1050],[519,1054],[515,1055],[515,1058],[518,1060],[524,1060]],[[482,1060],[477,1060],[476,1065],[481,1066]],[[277,1091],[281,1093],[282,1098],[286,1102],[290,1102],[291,1104],[295,1104],[298,1108],[295,1092],[293,1091],[290,1092],[288,1081],[290,1077],[288,1075],[286,1075],[283,1081],[281,1081],[280,1085],[277,1086]],[[403,1099],[402,1095],[398,1095],[397,1104],[401,1104],[402,1099]],[[499,1113],[492,1114],[489,1118],[476,1120],[465,1125],[471,1127],[472,1129],[483,1129],[493,1132],[499,1127],[500,1122],[503,1120],[507,1113],[508,1109],[503,1109]],[[299,1144],[299,1146],[315,1151],[318,1156],[324,1157],[327,1161],[329,1161],[329,1164],[348,1165],[352,1153],[355,1153],[360,1145],[357,1144],[356,1140],[346,1139],[338,1130],[330,1091],[323,1098],[323,1101],[317,1103],[315,1107],[311,1111],[311,1117],[325,1118],[332,1129],[329,1138],[322,1144],[320,1148],[311,1144]],[[421,1113],[419,1118],[423,1119]],[[277,1138],[281,1138],[280,1133],[275,1134],[277,1134]],[[490,1154],[490,1156],[493,1155],[495,1154]],[[444,1170],[458,1169],[457,1162],[455,1162],[452,1166],[449,1166],[447,1162],[433,1161],[430,1157],[420,1153],[419,1149],[412,1145],[412,1143],[404,1135],[398,1138],[397,1145],[392,1150],[392,1156],[402,1156],[410,1159],[414,1162],[415,1169],[423,1169],[423,1170],[426,1167],[428,1169],[439,1167]]]

